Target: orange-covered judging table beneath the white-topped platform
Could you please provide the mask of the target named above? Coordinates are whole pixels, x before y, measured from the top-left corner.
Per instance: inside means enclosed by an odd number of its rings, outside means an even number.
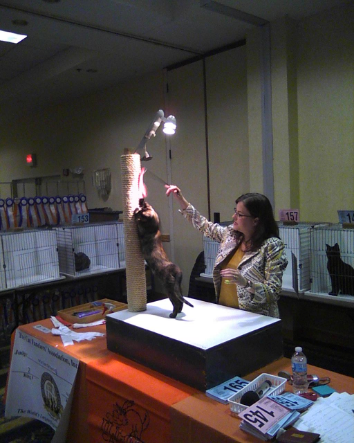
[[[80,361],[66,442],[120,442],[126,441],[124,437],[132,433],[135,438],[127,442],[260,441],[240,430],[240,419],[232,416],[230,406],[110,352],[106,336],[64,347],[59,336],[45,334],[35,329],[36,325],[49,329],[53,326],[46,319],[17,329]],[[105,332],[105,325],[84,329],[88,331]],[[277,375],[280,370],[290,371],[289,359],[279,359],[244,378],[252,380],[263,372]],[[330,377],[330,386],[337,392],[354,393],[352,377],[312,365],[308,365],[308,372]],[[290,388],[287,384],[286,390]]]

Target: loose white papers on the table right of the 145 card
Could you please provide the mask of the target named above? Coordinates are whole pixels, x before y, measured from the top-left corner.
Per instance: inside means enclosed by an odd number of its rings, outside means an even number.
[[[320,397],[301,415],[296,427],[300,431],[321,434],[321,443],[352,443],[354,435],[354,395],[333,392]]]

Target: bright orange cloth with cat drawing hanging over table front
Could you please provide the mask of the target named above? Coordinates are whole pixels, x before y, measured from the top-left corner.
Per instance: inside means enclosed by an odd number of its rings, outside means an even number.
[[[197,392],[115,354],[87,363],[86,386],[92,443],[171,442],[171,406]]]

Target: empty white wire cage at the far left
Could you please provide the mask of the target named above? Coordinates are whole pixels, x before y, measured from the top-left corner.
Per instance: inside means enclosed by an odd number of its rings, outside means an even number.
[[[0,289],[59,279],[53,230],[0,233]]]

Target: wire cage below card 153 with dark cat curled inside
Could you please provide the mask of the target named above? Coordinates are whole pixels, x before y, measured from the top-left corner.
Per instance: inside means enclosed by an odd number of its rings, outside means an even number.
[[[122,222],[57,226],[59,269],[64,275],[100,273],[125,267]]]

